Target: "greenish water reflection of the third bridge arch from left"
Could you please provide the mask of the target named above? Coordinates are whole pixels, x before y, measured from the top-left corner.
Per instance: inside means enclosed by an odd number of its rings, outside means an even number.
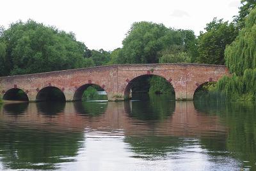
[[[106,112],[108,101],[76,101],[74,107],[80,115],[98,116]]]

